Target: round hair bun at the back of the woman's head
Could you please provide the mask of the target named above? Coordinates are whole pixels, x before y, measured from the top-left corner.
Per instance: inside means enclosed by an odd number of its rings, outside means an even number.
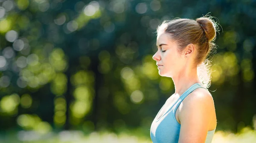
[[[212,41],[216,37],[216,28],[214,22],[208,17],[200,17],[195,20],[199,25],[204,28],[204,32],[207,36],[208,41]]]

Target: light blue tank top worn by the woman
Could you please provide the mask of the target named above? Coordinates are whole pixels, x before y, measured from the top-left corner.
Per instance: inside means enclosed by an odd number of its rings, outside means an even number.
[[[180,123],[177,122],[175,118],[175,113],[180,103],[186,98],[189,93],[194,91],[197,88],[205,88],[199,83],[193,84],[189,87],[180,97],[177,99],[175,104],[163,114],[162,117],[158,117],[157,115],[163,109],[157,113],[154,121],[151,124],[150,128],[150,137],[153,143],[178,143],[179,135],[180,135]],[[205,88],[207,89],[207,88]],[[165,104],[164,104],[165,105]],[[163,105],[163,106],[164,106]],[[215,129],[212,131],[208,131],[205,143],[211,143],[214,135]]]

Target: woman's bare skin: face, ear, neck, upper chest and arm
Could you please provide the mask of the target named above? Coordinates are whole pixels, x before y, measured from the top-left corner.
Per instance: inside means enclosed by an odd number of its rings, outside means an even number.
[[[169,34],[157,34],[158,50],[153,59],[162,65],[157,67],[159,75],[172,78],[175,84],[175,93],[166,101],[169,105],[190,86],[200,83],[195,66],[196,46],[189,44],[179,52]],[[203,88],[194,90],[181,102],[175,117],[181,124],[178,143],[205,143],[207,132],[215,129],[217,124],[212,95]]]

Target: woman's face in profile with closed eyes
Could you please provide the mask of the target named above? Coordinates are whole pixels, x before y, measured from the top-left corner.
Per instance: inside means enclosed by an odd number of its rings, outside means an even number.
[[[160,76],[173,77],[183,70],[184,55],[178,52],[178,45],[169,34],[164,32],[157,34],[157,49],[153,59],[160,64],[157,67]]]

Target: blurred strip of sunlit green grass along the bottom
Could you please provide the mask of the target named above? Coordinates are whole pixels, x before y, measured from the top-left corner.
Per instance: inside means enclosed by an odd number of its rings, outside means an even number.
[[[212,143],[255,143],[256,130],[245,127],[241,132],[217,131]],[[84,135],[81,131],[63,131],[45,135],[36,132],[19,132],[0,136],[0,143],[152,143],[149,135],[142,136],[136,132],[119,133],[92,132]]]

